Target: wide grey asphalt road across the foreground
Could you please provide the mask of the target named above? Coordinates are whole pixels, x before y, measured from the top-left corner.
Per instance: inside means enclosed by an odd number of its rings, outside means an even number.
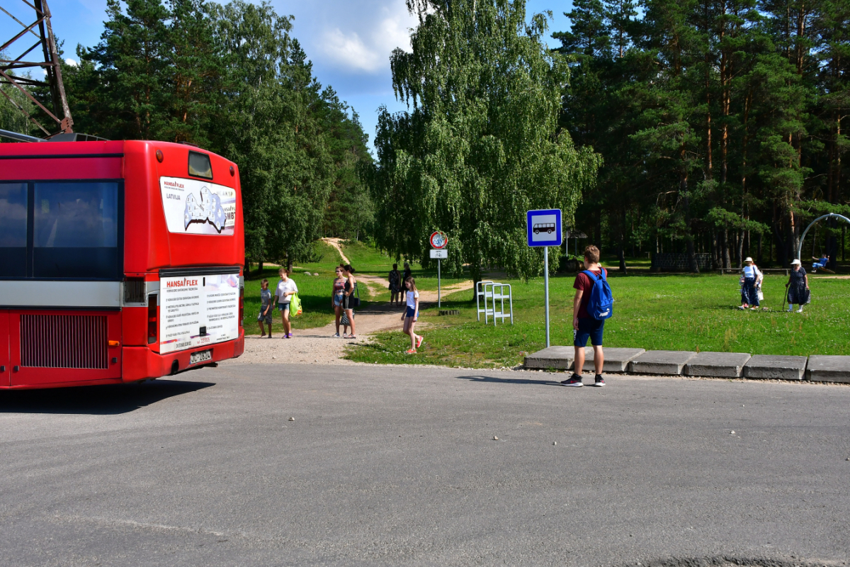
[[[850,387],[548,377],[0,393],[0,564],[848,564]]]

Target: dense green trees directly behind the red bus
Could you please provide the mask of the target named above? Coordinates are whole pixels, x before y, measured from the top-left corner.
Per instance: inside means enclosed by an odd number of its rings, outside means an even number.
[[[189,142],[239,165],[250,260],[292,263],[320,236],[370,230],[357,113],[269,3],[108,0],[100,42],[77,57],[62,69],[75,131]],[[0,120],[30,128],[8,102]]]

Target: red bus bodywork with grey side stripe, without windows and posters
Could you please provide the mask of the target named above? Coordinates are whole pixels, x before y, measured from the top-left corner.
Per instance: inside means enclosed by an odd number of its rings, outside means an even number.
[[[157,159],[157,150],[161,152],[161,162]],[[190,151],[209,156],[212,179],[190,176]],[[230,215],[235,217],[232,234],[169,232],[162,203],[161,177],[195,179],[195,184],[208,182],[235,190],[235,215]],[[193,352],[212,349],[212,360],[204,360],[196,367],[241,355],[245,348],[241,321],[238,337],[234,340],[159,354],[159,332],[153,339],[148,336],[150,312],[147,307],[149,296],[154,301],[158,297],[160,270],[229,267],[238,269],[242,275],[245,241],[238,167],[200,148],[156,141],[0,145],[0,182],[37,184],[40,181],[77,183],[87,180],[122,184],[118,185],[119,199],[123,199],[118,201],[122,215],[118,221],[118,226],[122,226],[118,253],[124,283],[111,278],[87,281],[84,277],[79,281],[74,277],[65,278],[65,281],[31,279],[31,276],[19,280],[0,279],[0,307],[3,307],[0,309],[0,366],[5,366],[5,370],[0,369],[0,389],[134,382],[190,369]],[[32,187],[30,185],[30,195]],[[73,201],[68,202],[73,205]],[[30,215],[32,207],[33,204]],[[101,209],[104,209],[103,204]],[[31,244],[27,246],[32,250]],[[48,243],[48,246],[51,245]],[[143,298],[127,301],[126,293],[121,296],[131,279],[135,280],[134,284],[144,281]],[[154,313],[158,329],[158,306]],[[45,337],[40,339],[45,331]],[[93,342],[92,337],[98,338]],[[108,343],[105,359],[101,339]],[[63,356],[68,360],[59,360]],[[74,359],[75,356],[85,360],[81,359],[81,363]],[[92,363],[89,359],[96,360]]]

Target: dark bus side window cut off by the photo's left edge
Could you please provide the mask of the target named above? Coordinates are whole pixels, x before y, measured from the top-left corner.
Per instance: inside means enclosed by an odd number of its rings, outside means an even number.
[[[0,183],[0,277],[26,277],[26,183]]]

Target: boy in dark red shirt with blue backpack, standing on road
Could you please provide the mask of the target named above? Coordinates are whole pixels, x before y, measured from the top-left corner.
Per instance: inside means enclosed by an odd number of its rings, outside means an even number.
[[[593,385],[601,388],[605,385],[602,377],[604,354],[602,352],[602,332],[605,320],[613,313],[613,299],[608,285],[608,270],[599,265],[599,249],[595,246],[585,248],[585,270],[575,276],[575,298],[573,298],[573,346],[575,347],[575,365],[569,380],[561,382],[564,386],[581,387],[581,371],[584,368],[584,349],[587,339],[593,345],[593,366],[596,380]]]

